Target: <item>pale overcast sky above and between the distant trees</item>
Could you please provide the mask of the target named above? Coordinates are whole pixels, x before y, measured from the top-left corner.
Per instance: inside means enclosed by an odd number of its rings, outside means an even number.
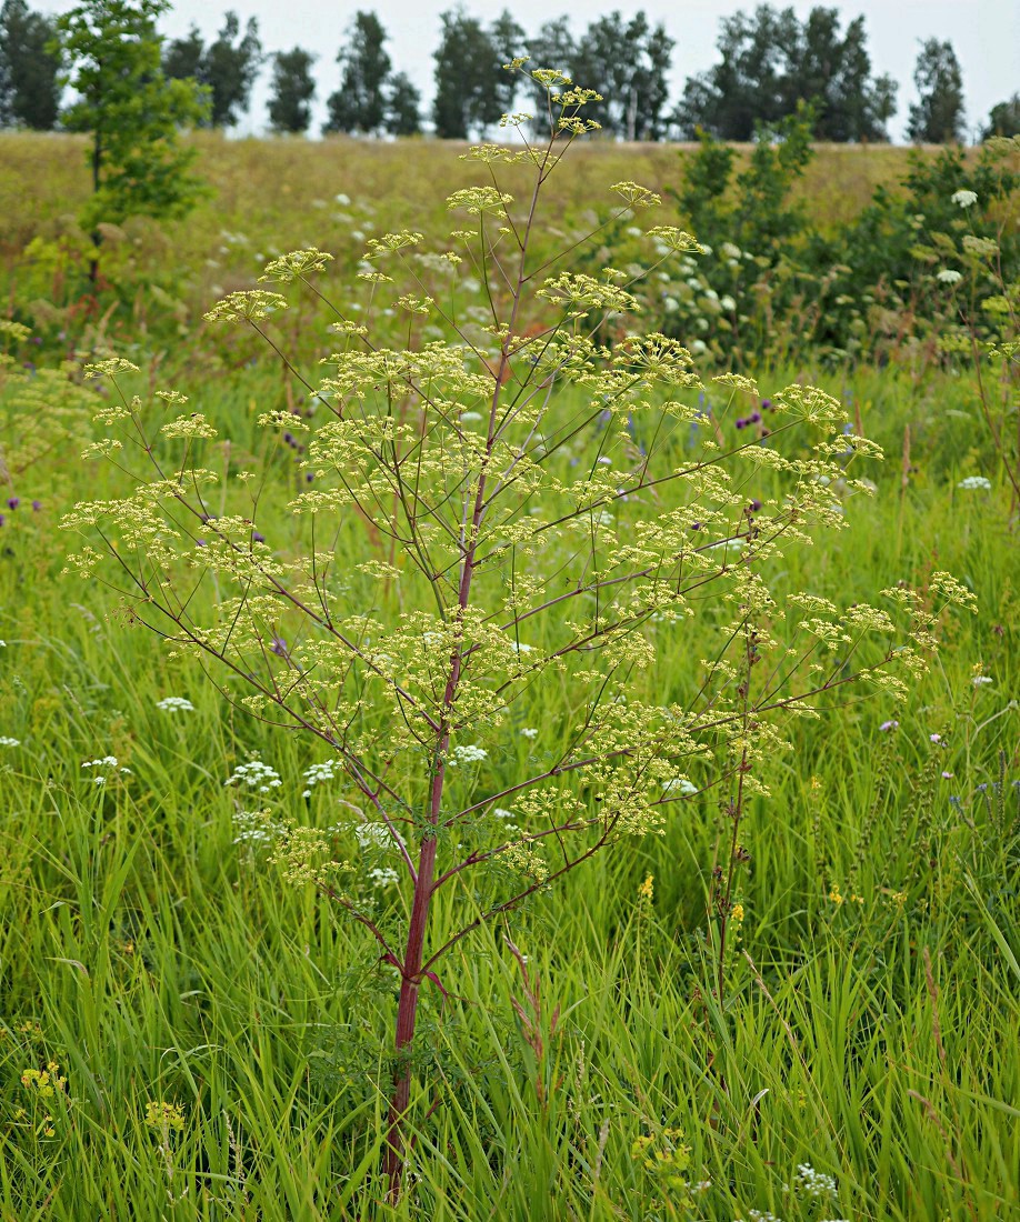
[[[57,0],[38,7],[62,12],[75,0]],[[843,24],[859,13],[865,17],[872,71],[888,72],[899,81],[899,109],[891,125],[894,139],[903,139],[906,109],[914,99],[913,72],[919,42],[925,38],[949,39],[964,73],[967,125],[981,125],[997,101],[1020,92],[1020,0],[793,0],[804,17],[816,2],[839,7]],[[624,15],[644,9],[652,22],[662,21],[676,39],[673,50],[672,98],[679,95],[687,77],[710,67],[716,60],[719,17],[754,9],[756,0],[643,0],[636,5],[590,0],[574,10],[574,33],[594,17],[621,10]],[[34,5],[33,5],[34,7]],[[233,7],[242,20],[257,17],[263,48],[266,51],[290,50],[298,45],[319,56],[315,66],[319,82],[314,130],[325,117],[325,99],[340,84],[336,53],[344,42],[347,27],[358,9],[374,10],[390,33],[387,45],[393,66],[404,71],[421,89],[425,103],[432,95],[432,53],[439,44],[440,13],[453,7],[453,0],[178,0],[164,18],[162,29],[170,37],[187,33],[194,23],[206,39],[215,37],[224,11]],[[530,34],[544,21],[569,11],[564,4],[550,0],[470,0],[465,9],[483,21],[491,21],[509,7]],[[776,7],[787,7],[783,0]],[[555,67],[556,65],[542,65]],[[246,131],[261,131],[266,123],[265,103],[270,66],[263,67],[252,99]],[[579,82],[584,83],[584,82]]]

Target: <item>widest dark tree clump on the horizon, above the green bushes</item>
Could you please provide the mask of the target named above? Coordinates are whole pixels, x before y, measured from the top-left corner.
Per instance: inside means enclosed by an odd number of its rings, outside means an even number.
[[[705,130],[749,141],[757,123],[774,123],[814,105],[820,141],[882,141],[895,114],[897,86],[872,78],[864,18],[840,33],[836,9],[812,9],[801,24],[793,9],[759,5],[722,21],[721,62],[691,77],[674,122],[688,137]]]

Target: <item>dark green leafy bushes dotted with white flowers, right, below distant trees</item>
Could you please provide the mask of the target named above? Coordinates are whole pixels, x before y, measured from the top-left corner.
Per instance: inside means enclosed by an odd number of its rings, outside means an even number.
[[[913,152],[898,187],[881,186],[833,230],[798,186],[816,155],[810,126],[805,112],[765,134],[739,172],[737,152],[702,136],[677,198],[712,253],[660,281],[649,306],[661,325],[696,329],[695,346],[723,359],[925,353],[956,363],[971,334],[1009,338],[1015,320],[997,303],[1020,279],[1015,141],[992,139],[976,155]]]

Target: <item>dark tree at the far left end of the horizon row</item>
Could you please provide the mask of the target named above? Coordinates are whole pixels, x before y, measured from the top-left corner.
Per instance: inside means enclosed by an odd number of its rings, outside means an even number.
[[[0,9],[0,127],[48,132],[60,110],[60,51],[50,17],[32,12],[24,0],[4,0]]]

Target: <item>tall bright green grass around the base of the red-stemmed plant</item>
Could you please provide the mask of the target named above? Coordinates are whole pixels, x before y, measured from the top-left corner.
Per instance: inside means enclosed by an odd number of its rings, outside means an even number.
[[[851,529],[792,554],[785,580],[853,601],[945,568],[980,613],[947,621],[905,709],[848,703],[792,728],[743,830],[723,995],[713,791],[459,945],[446,995],[426,997],[396,1207],[379,1173],[396,979],[238,843],[224,782],[258,753],[302,818],[335,822],[348,796],[302,798],[315,745],[250,721],[118,622],[101,587],[60,576],[59,513],[105,477],[70,446],[38,467],[42,508],[0,528],[0,734],[18,741],[0,747],[0,1217],[1015,1216],[1020,554],[1004,490],[956,488],[987,463],[965,382],[832,389],[891,453],[876,496],[848,502]],[[202,406],[247,446],[250,402],[279,393],[253,369]],[[343,546],[368,546],[357,523]],[[706,639],[663,626],[658,648],[649,682],[679,697]],[[167,695],[194,709],[162,711]],[[540,734],[520,750],[541,752],[562,712],[530,709]],[[116,769],[82,767],[107,755]],[[443,898],[434,936],[472,903]],[[50,1062],[66,1086],[44,1097],[22,1074]],[[149,1103],[178,1105],[182,1129],[147,1124]],[[799,1188],[800,1165],[834,1194]]]

